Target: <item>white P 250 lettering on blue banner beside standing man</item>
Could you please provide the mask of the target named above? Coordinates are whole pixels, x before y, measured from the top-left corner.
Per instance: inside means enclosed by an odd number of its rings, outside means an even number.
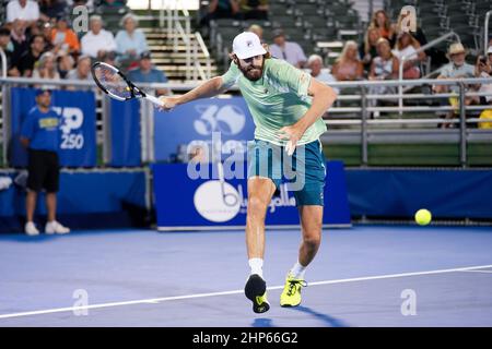
[[[79,108],[54,107],[55,111],[61,116],[61,144],[62,149],[81,149],[84,146],[84,135],[82,124],[84,113]]]

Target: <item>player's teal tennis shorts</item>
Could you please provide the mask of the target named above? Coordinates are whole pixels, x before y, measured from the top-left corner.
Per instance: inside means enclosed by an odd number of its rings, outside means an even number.
[[[248,178],[256,176],[270,178],[277,189],[288,183],[296,206],[324,206],[326,167],[319,141],[297,146],[292,157],[283,146],[260,140],[248,142]]]

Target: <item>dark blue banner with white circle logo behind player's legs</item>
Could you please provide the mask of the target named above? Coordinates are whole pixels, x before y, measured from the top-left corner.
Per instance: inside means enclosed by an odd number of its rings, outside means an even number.
[[[157,228],[203,229],[246,225],[247,180],[190,179],[186,164],[156,164],[153,167]],[[213,169],[211,169],[213,172]],[[268,207],[266,225],[297,226],[295,198],[282,185]],[[350,225],[343,164],[327,163],[324,225]]]

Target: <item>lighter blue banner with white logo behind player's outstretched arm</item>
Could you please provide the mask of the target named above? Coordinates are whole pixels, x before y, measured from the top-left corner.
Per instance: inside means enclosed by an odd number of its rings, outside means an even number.
[[[192,141],[211,142],[214,132],[220,132],[223,153],[246,149],[255,124],[243,97],[196,100],[171,112],[155,109],[155,161],[173,161]]]

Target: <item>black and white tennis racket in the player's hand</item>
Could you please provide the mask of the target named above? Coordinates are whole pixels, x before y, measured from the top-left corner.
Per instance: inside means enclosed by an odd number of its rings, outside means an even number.
[[[91,73],[97,87],[114,99],[125,101],[133,98],[144,98],[152,101],[155,106],[162,106],[162,101],[159,98],[141,91],[119,69],[113,65],[95,62],[91,68]]]

